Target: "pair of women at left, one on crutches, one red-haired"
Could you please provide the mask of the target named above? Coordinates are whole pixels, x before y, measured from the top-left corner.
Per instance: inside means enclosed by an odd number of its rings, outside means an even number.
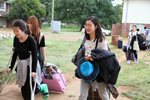
[[[32,85],[36,79],[35,94],[41,91],[44,98],[48,96],[47,85],[42,84],[41,79],[42,68],[45,66],[45,37],[40,32],[38,19],[36,16],[30,16],[26,22],[17,19],[13,22],[12,28],[15,34],[14,52],[7,72],[10,73],[13,70],[15,62],[18,60],[16,82],[21,87],[24,100],[31,100],[30,75],[32,76]],[[30,56],[32,56],[31,62]],[[30,63],[32,63],[31,66]],[[30,68],[32,73],[30,73]]]

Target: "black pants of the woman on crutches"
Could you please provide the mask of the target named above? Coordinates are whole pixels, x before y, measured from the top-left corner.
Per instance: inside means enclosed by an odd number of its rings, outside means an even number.
[[[29,74],[29,67],[27,72],[27,79],[25,85],[21,87],[21,93],[24,100],[31,100],[31,91],[30,91],[30,74]],[[32,87],[34,87],[34,82],[32,82]],[[40,92],[39,86],[36,84],[35,94]]]

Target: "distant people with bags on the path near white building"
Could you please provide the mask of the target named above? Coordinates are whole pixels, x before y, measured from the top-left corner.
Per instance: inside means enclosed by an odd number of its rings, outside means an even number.
[[[147,27],[144,27],[144,36],[145,39],[140,35],[139,29],[137,29],[136,25],[132,26],[132,31],[128,34],[128,44],[127,44],[127,63],[131,63],[131,56],[133,60],[138,63],[138,52],[139,50],[149,50],[150,45],[150,29],[147,29]],[[139,44],[139,50],[134,50],[134,41],[138,41]]]

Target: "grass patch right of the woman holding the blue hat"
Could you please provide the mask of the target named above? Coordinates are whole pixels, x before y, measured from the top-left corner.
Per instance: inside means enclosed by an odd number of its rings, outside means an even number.
[[[122,95],[132,98],[133,100],[150,100],[150,66],[145,64],[150,60],[147,57],[150,52],[139,60],[139,63],[126,64],[126,61],[121,63],[121,72],[118,78],[118,86],[133,87],[132,90]]]

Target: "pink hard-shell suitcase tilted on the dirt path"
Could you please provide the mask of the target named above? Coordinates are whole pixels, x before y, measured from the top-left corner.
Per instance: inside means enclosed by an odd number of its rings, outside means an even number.
[[[42,73],[42,81],[46,83],[49,91],[64,92],[67,85],[66,79],[61,70],[56,73]]]

